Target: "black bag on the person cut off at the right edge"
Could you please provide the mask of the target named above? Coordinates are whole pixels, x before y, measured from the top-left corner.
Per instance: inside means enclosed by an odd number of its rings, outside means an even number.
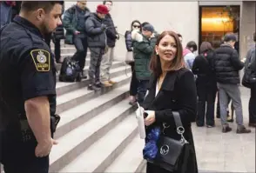
[[[255,61],[255,49],[249,50],[246,56],[245,63],[245,74],[242,79],[242,84],[246,88],[251,88],[254,83],[256,83],[256,61]]]

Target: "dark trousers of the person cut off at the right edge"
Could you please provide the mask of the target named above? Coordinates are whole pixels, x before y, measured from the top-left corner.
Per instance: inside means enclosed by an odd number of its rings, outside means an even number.
[[[249,123],[256,123],[256,84],[251,88],[249,101]]]

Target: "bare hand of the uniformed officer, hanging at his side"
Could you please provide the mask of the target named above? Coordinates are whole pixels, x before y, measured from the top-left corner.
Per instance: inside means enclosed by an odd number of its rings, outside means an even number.
[[[57,141],[54,139],[50,139],[45,143],[37,143],[37,148],[35,150],[35,154],[37,157],[48,156],[51,152],[52,145],[56,145]]]

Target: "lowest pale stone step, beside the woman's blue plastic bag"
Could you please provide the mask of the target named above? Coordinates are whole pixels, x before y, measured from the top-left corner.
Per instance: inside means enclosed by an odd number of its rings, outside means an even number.
[[[120,172],[141,172],[138,171],[143,162],[142,150],[145,140],[135,136],[131,143],[118,156],[111,165],[104,170],[105,173],[120,173]]]

